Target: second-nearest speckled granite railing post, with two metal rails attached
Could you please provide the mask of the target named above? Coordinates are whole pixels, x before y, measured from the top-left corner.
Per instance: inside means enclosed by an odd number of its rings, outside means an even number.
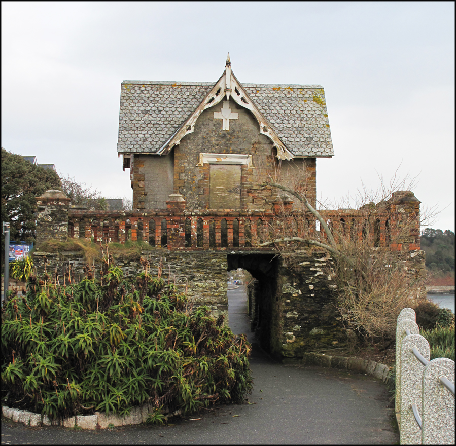
[[[415,403],[418,411],[423,409],[423,370],[424,366],[416,359],[413,347],[429,361],[429,343],[420,334],[410,334],[402,340],[401,346],[401,444],[421,444],[421,429],[416,423],[411,405]],[[423,419],[423,412],[419,414]]]

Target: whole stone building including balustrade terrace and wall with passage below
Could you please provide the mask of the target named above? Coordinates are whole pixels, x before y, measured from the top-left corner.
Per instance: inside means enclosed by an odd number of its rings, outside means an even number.
[[[67,236],[102,245],[145,242],[151,273],[163,266],[196,306],[224,315],[226,323],[226,274],[242,268],[256,279],[249,306],[265,350],[302,358],[344,342],[327,252],[302,247],[284,256],[262,246],[271,228],[282,230],[295,216],[303,222],[299,231],[324,237],[308,213],[293,210],[290,197],[261,185],[265,172],[277,175],[315,204],[316,160],[334,155],[320,85],[240,84],[229,57],[216,83],[124,81],[118,153],[130,169],[133,209],[81,209],[47,191],[37,197],[37,245]],[[403,251],[408,273],[420,276],[419,205],[413,192],[397,191],[377,205],[321,213],[336,238],[340,230],[352,240],[371,240],[373,252]],[[39,271],[45,258],[50,270],[71,268],[74,280],[84,277],[79,251],[37,248]],[[138,260],[119,258],[117,265],[134,275]]]

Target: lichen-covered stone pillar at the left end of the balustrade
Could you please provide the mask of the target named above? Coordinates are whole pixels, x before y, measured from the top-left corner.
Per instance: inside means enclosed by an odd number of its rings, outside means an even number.
[[[66,240],[69,198],[62,191],[49,190],[36,200],[37,245],[49,239]]]

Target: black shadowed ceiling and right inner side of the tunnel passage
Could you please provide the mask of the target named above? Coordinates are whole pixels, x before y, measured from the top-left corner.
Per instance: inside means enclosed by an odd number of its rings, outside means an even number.
[[[269,253],[228,254],[228,271],[242,268],[256,279],[253,286],[255,298],[250,314],[251,330],[263,350],[280,356],[280,311],[278,302],[278,256]]]

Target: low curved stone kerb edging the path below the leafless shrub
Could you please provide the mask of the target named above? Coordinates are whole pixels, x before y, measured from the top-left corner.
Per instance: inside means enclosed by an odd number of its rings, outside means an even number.
[[[304,353],[304,365],[317,365],[326,368],[353,370],[360,374],[373,376],[384,383],[389,380],[390,367],[381,362],[357,358],[356,356],[331,356],[320,353]]]

